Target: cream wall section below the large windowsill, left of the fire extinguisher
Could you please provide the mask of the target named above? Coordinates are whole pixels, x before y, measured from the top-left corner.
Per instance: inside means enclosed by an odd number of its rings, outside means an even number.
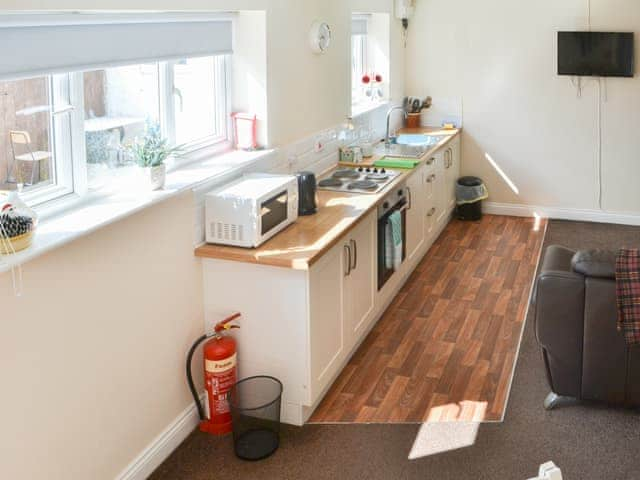
[[[186,193],[0,276],[0,477],[114,478],[185,409],[192,252]]]

